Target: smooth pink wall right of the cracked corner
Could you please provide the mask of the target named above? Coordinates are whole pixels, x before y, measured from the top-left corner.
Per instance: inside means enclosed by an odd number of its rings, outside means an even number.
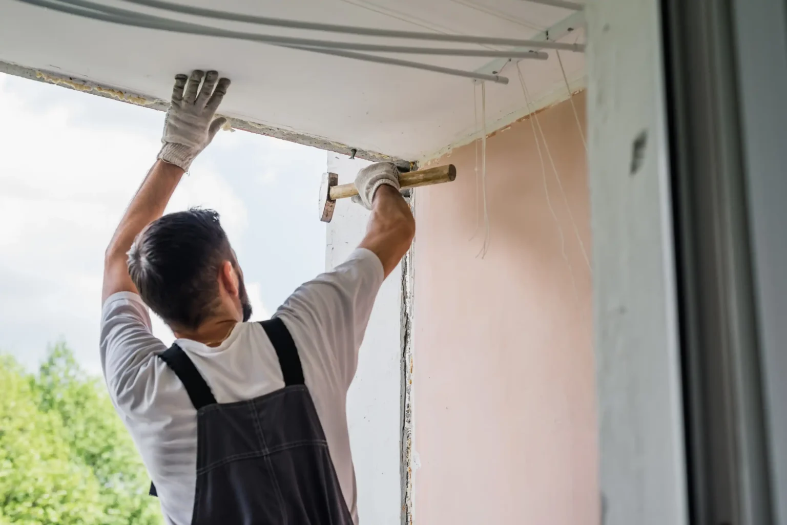
[[[455,182],[417,192],[416,524],[598,523],[586,155],[568,102],[538,120],[557,220],[530,120],[487,141],[486,258],[482,231],[470,240],[474,146],[431,163],[456,165]]]

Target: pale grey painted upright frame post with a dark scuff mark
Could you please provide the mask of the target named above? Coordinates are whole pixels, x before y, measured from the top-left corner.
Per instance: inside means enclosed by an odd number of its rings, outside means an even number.
[[[660,2],[598,0],[586,11],[602,519],[684,525]]]

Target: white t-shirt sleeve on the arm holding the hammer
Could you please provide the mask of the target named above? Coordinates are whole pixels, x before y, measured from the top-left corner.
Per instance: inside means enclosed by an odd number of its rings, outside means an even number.
[[[295,290],[274,315],[285,321],[298,352],[345,389],[355,375],[358,349],[383,279],[379,258],[359,248],[331,272]]]

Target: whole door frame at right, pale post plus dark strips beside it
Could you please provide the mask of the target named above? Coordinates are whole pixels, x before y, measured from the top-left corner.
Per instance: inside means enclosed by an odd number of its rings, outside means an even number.
[[[787,4],[589,22],[604,523],[787,524]]]

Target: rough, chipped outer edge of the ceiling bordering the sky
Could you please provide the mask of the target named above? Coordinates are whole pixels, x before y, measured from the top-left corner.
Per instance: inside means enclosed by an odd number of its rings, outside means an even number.
[[[127,90],[116,89],[115,87],[109,87],[91,82],[89,80],[79,79],[75,76],[64,75],[61,72],[51,72],[44,69],[28,68],[24,65],[12,64],[11,62],[6,61],[0,61],[0,72],[8,73],[9,75],[13,76],[20,76],[24,79],[37,80],[43,83],[55,84],[60,87],[67,87],[68,89],[72,89],[74,91],[83,91],[85,93],[98,95],[99,97],[113,98],[120,102],[126,102],[127,104],[141,105],[142,107],[157,109],[159,111],[166,111],[169,107],[169,102],[161,100],[160,98],[150,97],[148,95],[138,94]],[[296,142],[297,144],[303,144],[305,146],[313,146],[320,148],[320,150],[344,153],[345,155],[349,155],[351,157],[354,154],[355,157],[367,161],[393,162],[399,168],[405,168],[408,170],[413,165],[411,161],[405,161],[405,159],[401,159],[399,157],[391,157],[390,155],[377,153],[375,151],[368,151],[362,148],[353,148],[351,146],[342,144],[341,142],[334,142],[323,137],[305,135],[304,133],[281,128],[272,128],[271,126],[257,124],[256,122],[252,122],[250,120],[237,119],[231,116],[227,116],[227,120],[229,120],[232,128],[249,131],[251,133],[256,133],[257,135],[266,135],[268,137],[274,137],[275,139]]]

